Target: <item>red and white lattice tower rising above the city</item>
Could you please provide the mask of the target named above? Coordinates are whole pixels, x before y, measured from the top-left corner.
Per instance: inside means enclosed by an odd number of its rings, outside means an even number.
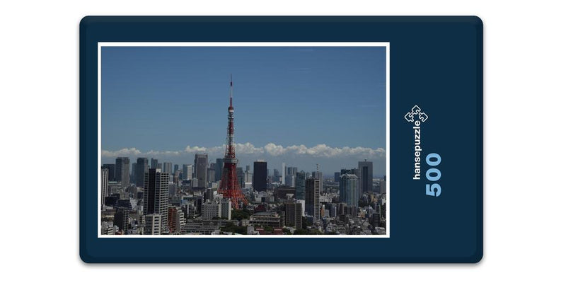
[[[234,108],[232,106],[232,75],[230,75],[230,106],[228,108],[228,134],[226,136],[226,153],[224,154],[224,169],[222,170],[222,179],[218,189],[219,194],[226,199],[232,200],[232,207],[240,208],[243,204],[248,204],[248,200],[244,197],[238,183],[238,175],[236,175],[236,149],[234,149]]]

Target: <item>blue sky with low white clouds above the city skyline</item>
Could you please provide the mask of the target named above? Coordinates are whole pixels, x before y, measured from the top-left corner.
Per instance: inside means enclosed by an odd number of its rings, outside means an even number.
[[[233,74],[241,161],[318,158],[330,174],[367,155],[383,175],[385,63],[385,47],[103,47],[103,163],[220,158]]]

